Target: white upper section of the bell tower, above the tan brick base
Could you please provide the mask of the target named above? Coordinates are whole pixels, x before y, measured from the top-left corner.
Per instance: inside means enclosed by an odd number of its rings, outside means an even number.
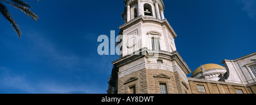
[[[177,35],[164,17],[162,0],[126,0],[124,3],[124,24],[119,27],[119,34],[122,34],[119,40],[123,41],[119,44],[122,47],[121,56],[143,47],[149,50],[176,51],[174,38]]]

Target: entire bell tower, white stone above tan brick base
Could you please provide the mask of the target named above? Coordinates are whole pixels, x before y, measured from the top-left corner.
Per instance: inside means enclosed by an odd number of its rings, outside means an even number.
[[[177,37],[164,17],[162,0],[125,0],[119,27],[120,58],[112,62],[109,94],[190,93],[187,64],[176,51]]]

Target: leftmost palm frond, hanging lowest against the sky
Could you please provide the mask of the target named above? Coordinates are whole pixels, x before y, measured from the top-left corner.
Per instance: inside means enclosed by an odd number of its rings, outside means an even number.
[[[13,25],[13,28],[15,29],[16,33],[18,34],[18,37],[20,37],[22,35],[22,32],[20,31],[18,24],[14,21],[13,17],[7,10],[6,6],[3,5],[1,2],[0,2],[0,12],[3,15],[3,17],[5,17],[5,19],[7,21],[9,21],[11,25]]]

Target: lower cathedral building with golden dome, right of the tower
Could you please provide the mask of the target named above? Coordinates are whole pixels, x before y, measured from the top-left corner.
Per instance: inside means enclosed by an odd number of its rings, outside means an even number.
[[[192,94],[255,94],[256,52],[234,60],[223,60],[225,67],[205,64],[188,78]]]

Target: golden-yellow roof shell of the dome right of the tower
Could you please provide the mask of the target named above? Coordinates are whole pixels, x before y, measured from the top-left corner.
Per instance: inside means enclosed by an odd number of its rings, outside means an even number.
[[[221,65],[218,65],[218,64],[205,64],[202,66],[204,67],[204,71],[208,71],[210,69],[226,69],[225,67],[222,67]],[[196,68],[196,70],[192,73],[191,77],[195,76],[199,72],[202,72],[201,66]]]

